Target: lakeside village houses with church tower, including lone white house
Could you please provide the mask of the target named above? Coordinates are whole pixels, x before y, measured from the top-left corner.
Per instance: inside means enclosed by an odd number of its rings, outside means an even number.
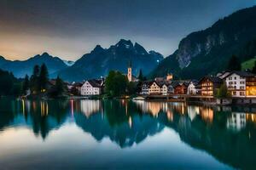
[[[256,75],[247,71],[222,71],[216,76],[201,77],[200,80],[175,80],[172,73],[169,73],[166,77],[140,81],[132,75],[129,65],[125,76],[129,82],[137,84],[137,97],[134,99],[189,100],[220,105],[256,104]],[[76,88],[78,94],[84,97],[101,95],[104,87],[103,77],[67,84],[69,90]]]

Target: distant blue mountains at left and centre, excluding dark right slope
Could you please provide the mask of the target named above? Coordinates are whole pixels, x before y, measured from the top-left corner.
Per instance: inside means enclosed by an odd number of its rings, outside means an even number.
[[[158,65],[164,59],[154,51],[147,51],[143,46],[130,40],[121,39],[110,48],[102,48],[96,45],[89,54],[84,54],[76,62],[61,60],[47,53],[36,55],[24,61],[10,61],[0,57],[0,68],[12,71],[15,77],[31,75],[34,65],[45,63],[50,77],[61,76],[66,81],[83,81],[88,78],[105,77],[110,70],[118,70],[126,73],[128,63],[131,62],[133,74],[137,76],[140,69],[144,75]]]

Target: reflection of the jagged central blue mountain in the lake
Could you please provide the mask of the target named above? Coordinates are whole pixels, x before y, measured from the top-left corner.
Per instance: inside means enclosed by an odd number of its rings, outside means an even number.
[[[77,125],[98,141],[108,137],[124,148],[138,144],[148,135],[159,133],[164,128],[150,116],[141,117],[131,112],[127,114],[126,104],[122,105],[119,101],[105,101],[103,105],[104,113],[99,112],[89,117],[83,114],[74,115]]]

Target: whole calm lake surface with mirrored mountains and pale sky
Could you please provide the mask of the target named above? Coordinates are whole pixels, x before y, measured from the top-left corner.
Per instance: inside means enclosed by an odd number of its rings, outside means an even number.
[[[255,113],[158,101],[0,99],[0,167],[253,168]]]

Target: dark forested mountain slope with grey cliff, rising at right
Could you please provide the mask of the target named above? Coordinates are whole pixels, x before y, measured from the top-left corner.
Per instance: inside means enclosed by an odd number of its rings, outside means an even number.
[[[241,51],[256,37],[255,18],[256,6],[245,8],[218,20],[206,30],[189,34],[179,43],[177,51],[163,59],[150,76],[172,72],[180,78],[200,78],[224,70],[232,54],[245,60]]]

